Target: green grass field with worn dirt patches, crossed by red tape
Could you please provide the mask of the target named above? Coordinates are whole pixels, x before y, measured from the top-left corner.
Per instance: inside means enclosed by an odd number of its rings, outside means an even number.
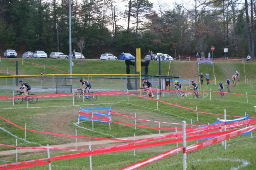
[[[25,61],[25,60],[24,60]],[[26,60],[29,62],[34,62],[38,64],[46,64],[48,66],[61,69],[63,71],[68,71],[69,65],[67,60],[53,60],[53,59],[34,59]],[[73,73],[83,73],[83,74],[125,74],[125,64],[123,61],[97,61],[97,60],[75,60],[75,66],[73,67]],[[255,82],[256,75],[256,64],[250,63],[245,65],[246,77],[252,82]],[[9,68],[10,70],[15,70],[14,61],[2,60],[0,63],[0,70],[5,70]],[[22,74],[39,74],[42,72],[42,67],[19,63],[20,72]],[[85,68],[85,69],[83,69]],[[108,69],[107,69],[108,68]],[[169,62],[162,62],[162,73],[163,75],[168,74]],[[188,98],[177,98],[174,94],[165,93],[159,98],[161,101],[169,102],[172,104],[184,106],[187,108],[195,109],[197,106],[198,111],[210,112],[224,114],[224,109],[227,110],[228,115],[238,115],[244,116],[249,114],[250,117],[256,116],[254,106],[256,106],[256,97],[249,96],[248,104],[246,103],[246,96],[239,96],[233,94],[225,94],[224,98],[221,98],[219,93],[211,93],[212,100],[210,101],[209,88],[212,91],[218,90],[218,82],[225,82],[227,78],[231,79],[231,76],[235,71],[239,71],[241,74],[241,81],[237,82],[237,87],[231,86],[232,93],[245,94],[256,94],[251,87],[245,83],[243,64],[239,62],[233,63],[221,63],[216,62],[214,64],[214,73],[217,77],[216,85],[214,82],[210,82],[210,85],[204,84],[201,87],[207,87],[208,92],[201,94],[200,99],[194,99],[191,94]],[[171,63],[170,75],[180,75],[182,79],[195,78],[198,75],[197,65],[195,62],[188,61],[174,61]],[[59,74],[60,72],[46,68],[47,74]],[[207,64],[201,64],[199,66],[199,72],[205,74],[209,72],[210,80],[213,79],[213,68]],[[158,73],[157,62],[152,62],[149,68],[149,74]],[[2,73],[4,74],[4,73]],[[2,80],[2,79],[1,79]],[[0,82],[0,86],[4,86]],[[256,83],[255,83],[256,84]],[[79,85],[79,84],[78,84]],[[103,85],[108,86],[108,84]],[[186,87],[184,87],[186,89]],[[183,90],[184,90],[183,89]],[[187,87],[189,89],[189,87]],[[203,90],[203,88],[201,88]],[[224,88],[226,90],[226,87]],[[1,95],[12,93],[12,90],[2,90]],[[43,94],[43,93],[42,93]],[[95,131],[90,131],[76,126],[74,123],[77,122],[77,116],[79,113],[79,108],[102,108],[111,106],[112,111],[134,116],[137,113],[137,118],[154,120],[154,121],[165,121],[165,122],[175,122],[181,123],[183,120],[190,123],[191,119],[193,124],[207,124],[215,122],[217,118],[223,119],[222,116],[210,115],[210,114],[198,114],[198,121],[196,112],[178,108],[175,106],[159,103],[159,110],[157,110],[156,101],[142,99],[135,96],[129,96],[129,103],[127,103],[126,95],[116,95],[116,96],[98,96],[96,102],[78,103],[75,101],[75,106],[73,105],[72,97],[55,97],[51,98],[40,98],[37,104],[28,104],[29,109],[26,108],[26,103],[21,105],[14,105],[12,100],[0,101],[0,116],[4,117],[19,126],[25,127],[27,123],[28,129],[42,130],[46,132],[75,135],[75,129],[77,129],[77,135],[81,136],[92,136],[92,137],[103,137],[103,138],[120,138],[120,137],[131,137],[135,133],[136,136],[139,135],[150,135],[158,134],[158,130],[137,128],[134,130],[133,126],[124,126],[119,124],[111,124],[111,131],[109,130],[109,124],[94,122]],[[79,106],[82,105],[82,106]],[[64,107],[65,106],[65,107]],[[66,107],[68,106],[68,107]],[[33,108],[38,107],[38,108]],[[134,123],[134,120],[129,118],[123,118],[117,115],[113,115],[112,119],[114,121]],[[233,119],[233,118],[227,118]],[[82,121],[82,120],[81,120]],[[158,127],[158,123],[148,123],[137,121],[139,125]],[[80,126],[91,129],[91,122],[82,122]],[[0,120],[0,127],[7,130],[9,133],[0,130],[0,143],[2,144],[15,144],[15,137],[11,134],[21,138],[18,139],[19,146],[39,146],[39,145],[53,145],[53,144],[65,144],[73,143],[74,138],[46,135],[34,132],[27,132],[28,143],[24,142],[24,131],[18,129],[17,127]],[[163,125],[161,127],[175,127],[174,125]],[[181,126],[177,126],[181,127]],[[100,133],[99,133],[100,132]],[[161,133],[172,133],[174,130],[161,130]],[[255,136],[255,135],[254,135]],[[87,142],[89,139],[78,139],[78,142]],[[92,140],[91,140],[92,141]],[[95,140],[93,140],[95,141]],[[187,145],[194,144],[196,141],[188,142]],[[227,141],[227,150],[224,150],[220,143],[209,146],[207,148],[189,153],[187,155],[187,167],[188,169],[256,169],[256,159],[255,159],[255,143],[256,138],[251,139],[250,135],[242,135],[239,137],[232,138]],[[103,145],[93,145],[94,148],[99,148],[103,146],[115,145],[103,144]],[[181,143],[179,143],[181,145]],[[157,146],[153,148],[140,149],[136,151],[136,156],[133,156],[133,150],[126,152],[118,152],[106,155],[93,156],[93,169],[118,169],[125,167],[127,165],[136,163],[140,160],[146,159],[148,157],[157,155],[159,153],[165,152],[176,147],[176,144]],[[88,148],[84,146],[81,148]],[[12,148],[0,147],[0,150],[11,150]],[[61,152],[61,151],[51,151],[51,156],[68,154],[73,152]],[[39,151],[34,153],[20,153],[18,154],[18,161],[31,160],[36,158],[47,157],[46,151]],[[1,155],[0,164],[15,162],[15,155]],[[89,168],[89,158],[74,158],[68,160],[60,160],[52,162],[52,169],[88,169]],[[48,169],[48,165],[28,168],[28,169]],[[142,169],[182,169],[182,153],[174,154],[170,157],[157,161],[156,163],[145,166]]]

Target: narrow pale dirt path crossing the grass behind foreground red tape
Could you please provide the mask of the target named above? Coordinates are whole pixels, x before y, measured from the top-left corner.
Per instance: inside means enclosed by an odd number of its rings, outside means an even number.
[[[161,135],[167,135],[170,133],[165,133]],[[141,135],[141,136],[136,136],[135,139],[145,139],[145,138],[153,138],[157,137],[159,134],[152,134],[152,135]],[[120,139],[120,138],[119,138]],[[124,137],[122,139],[130,139],[133,140],[132,137]],[[98,140],[98,141],[92,141],[91,145],[105,145],[105,144],[110,144],[110,143],[116,143],[119,141],[111,141],[111,140]],[[83,146],[88,146],[89,142],[77,142],[77,148],[83,147]],[[60,144],[60,145],[51,145],[49,147],[52,148],[75,148],[75,143],[67,143],[67,144]],[[99,146],[97,148],[101,148],[102,146]],[[87,147],[89,148],[89,146]],[[40,152],[42,150],[37,150],[37,149],[18,149],[18,153],[29,153],[29,152]],[[1,151],[0,155],[12,155],[16,154],[16,150],[8,150],[8,151]]]

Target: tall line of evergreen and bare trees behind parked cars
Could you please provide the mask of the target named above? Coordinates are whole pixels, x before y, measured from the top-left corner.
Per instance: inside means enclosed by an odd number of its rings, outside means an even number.
[[[150,0],[72,0],[72,50],[86,58],[136,48],[174,56],[254,57],[256,0],[194,0],[193,6]],[[187,7],[189,6],[189,7]],[[125,9],[124,9],[125,8]],[[0,0],[0,50],[69,53],[69,0]],[[82,43],[82,44],[81,44]],[[81,47],[83,47],[81,49]]]

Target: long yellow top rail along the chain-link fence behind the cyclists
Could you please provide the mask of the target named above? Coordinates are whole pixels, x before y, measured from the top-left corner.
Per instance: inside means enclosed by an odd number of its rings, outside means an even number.
[[[44,75],[12,75],[0,76],[0,78],[11,77],[45,77],[45,76],[140,76],[139,74],[44,74]]]

